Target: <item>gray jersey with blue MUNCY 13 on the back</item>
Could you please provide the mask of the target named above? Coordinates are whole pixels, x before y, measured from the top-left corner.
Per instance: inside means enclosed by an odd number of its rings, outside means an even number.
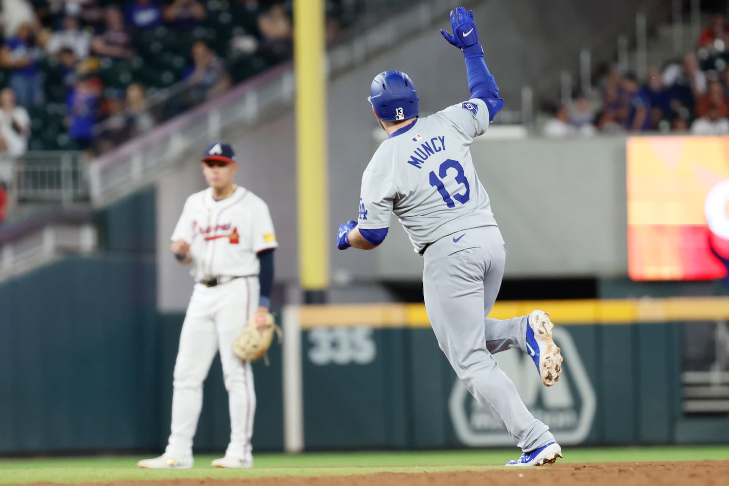
[[[445,235],[497,226],[469,151],[488,122],[486,103],[472,99],[389,136],[362,175],[359,227],[389,227],[395,213],[422,253]]]

